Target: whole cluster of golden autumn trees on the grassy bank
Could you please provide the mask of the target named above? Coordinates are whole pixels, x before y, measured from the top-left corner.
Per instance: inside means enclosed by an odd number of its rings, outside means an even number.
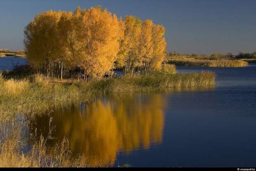
[[[74,71],[100,79],[115,67],[148,74],[165,58],[165,28],[135,16],[117,18],[102,7],[40,13],[24,30],[27,58],[47,77]]]

